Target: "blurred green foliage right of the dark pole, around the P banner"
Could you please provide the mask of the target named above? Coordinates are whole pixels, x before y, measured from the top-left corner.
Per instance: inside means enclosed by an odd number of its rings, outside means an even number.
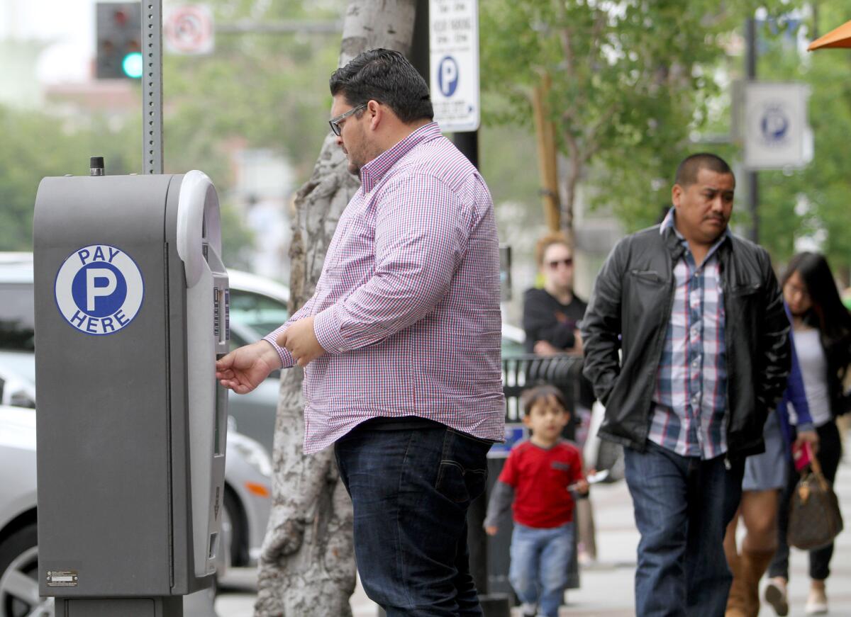
[[[803,41],[833,30],[848,20],[848,4],[819,2],[802,23]],[[817,18],[818,24],[814,23]],[[761,37],[757,75],[766,81],[802,81],[811,88],[809,122],[814,133],[814,160],[800,170],[765,171],[760,176],[760,241],[774,260],[785,263],[796,240],[825,252],[844,283],[851,274],[851,49],[802,51],[791,27],[768,24],[762,30],[781,37]]]

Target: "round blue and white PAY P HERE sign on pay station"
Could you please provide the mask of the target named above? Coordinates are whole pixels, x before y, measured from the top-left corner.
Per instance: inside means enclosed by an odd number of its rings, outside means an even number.
[[[114,334],[139,313],[145,284],[126,252],[93,244],[62,263],[54,294],[60,314],[74,328],[91,335]]]

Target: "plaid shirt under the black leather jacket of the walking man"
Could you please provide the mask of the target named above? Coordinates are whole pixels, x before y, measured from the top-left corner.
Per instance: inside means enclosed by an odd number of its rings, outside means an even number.
[[[674,215],[671,208],[660,233],[676,233],[686,250],[674,264],[674,303],[656,372],[648,439],[681,456],[708,460],[727,452],[727,349],[717,248],[729,231],[699,266],[674,226]]]

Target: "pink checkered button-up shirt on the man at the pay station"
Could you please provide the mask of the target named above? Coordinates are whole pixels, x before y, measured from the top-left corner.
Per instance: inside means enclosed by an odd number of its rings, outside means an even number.
[[[437,124],[361,168],[313,297],[328,352],[305,369],[305,451],[374,417],[419,416],[501,441],[500,258],[494,206]]]

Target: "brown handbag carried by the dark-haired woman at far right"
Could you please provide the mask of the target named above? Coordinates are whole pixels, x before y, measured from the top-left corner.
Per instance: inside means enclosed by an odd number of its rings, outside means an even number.
[[[842,513],[837,494],[821,473],[819,459],[810,460],[810,471],[802,473],[789,503],[786,541],[804,551],[829,545],[842,531]]]

